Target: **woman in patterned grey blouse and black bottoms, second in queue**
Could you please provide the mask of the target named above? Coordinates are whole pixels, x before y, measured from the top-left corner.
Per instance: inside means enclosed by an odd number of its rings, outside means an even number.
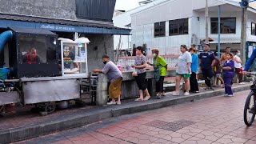
[[[138,89],[139,89],[139,98],[135,99],[135,101],[146,101],[150,99],[149,91],[147,90],[147,82],[146,82],[146,57],[142,54],[142,46],[138,46],[136,48],[135,58],[135,70],[137,74],[134,74],[136,79]],[[143,98],[143,92],[146,97]]]

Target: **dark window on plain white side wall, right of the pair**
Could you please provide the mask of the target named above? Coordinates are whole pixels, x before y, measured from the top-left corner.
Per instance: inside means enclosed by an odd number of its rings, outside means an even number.
[[[169,21],[169,35],[189,34],[189,18]]]

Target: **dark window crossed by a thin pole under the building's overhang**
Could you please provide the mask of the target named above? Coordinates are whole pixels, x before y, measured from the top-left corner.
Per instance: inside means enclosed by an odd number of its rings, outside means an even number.
[[[218,18],[210,18],[211,34],[218,34]],[[221,34],[235,34],[236,18],[221,18]]]

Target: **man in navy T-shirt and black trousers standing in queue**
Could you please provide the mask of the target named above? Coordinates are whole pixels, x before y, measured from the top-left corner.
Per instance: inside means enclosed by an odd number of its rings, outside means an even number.
[[[200,66],[202,69],[203,78],[206,82],[206,90],[214,90],[210,84],[210,79],[214,76],[213,66],[215,62],[215,57],[212,52],[210,52],[210,45],[205,45],[205,51],[199,54]]]

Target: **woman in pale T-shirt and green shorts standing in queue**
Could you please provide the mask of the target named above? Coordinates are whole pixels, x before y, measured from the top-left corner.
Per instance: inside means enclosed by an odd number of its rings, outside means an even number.
[[[187,51],[186,45],[182,45],[180,50],[182,54],[178,57],[178,63],[176,64],[176,86],[173,95],[179,95],[179,86],[182,78],[184,79],[186,90],[184,95],[190,95],[189,78],[191,73],[190,66],[192,62],[192,57],[191,54]]]

